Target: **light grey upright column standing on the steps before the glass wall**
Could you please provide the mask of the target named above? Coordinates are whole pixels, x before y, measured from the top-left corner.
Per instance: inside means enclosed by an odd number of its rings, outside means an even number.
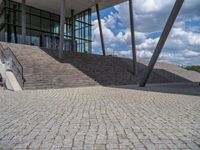
[[[60,0],[60,46],[59,58],[62,59],[64,49],[64,26],[65,26],[65,0]]]

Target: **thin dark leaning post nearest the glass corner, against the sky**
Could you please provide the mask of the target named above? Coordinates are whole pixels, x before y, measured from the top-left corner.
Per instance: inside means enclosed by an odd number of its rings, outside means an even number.
[[[102,32],[102,26],[101,26],[101,18],[100,18],[100,12],[99,12],[99,4],[96,4],[96,10],[97,10],[98,23],[99,23],[99,32],[100,32],[100,37],[101,37],[101,46],[102,46],[103,56],[106,56],[104,38],[103,38],[103,32]]]

